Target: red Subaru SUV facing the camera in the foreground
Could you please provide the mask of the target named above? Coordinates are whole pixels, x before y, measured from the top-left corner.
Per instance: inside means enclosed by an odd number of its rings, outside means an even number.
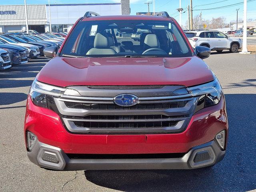
[[[135,41],[132,34],[140,32]],[[54,170],[194,169],[226,152],[218,79],[176,20],[86,12],[28,95],[28,158]]]

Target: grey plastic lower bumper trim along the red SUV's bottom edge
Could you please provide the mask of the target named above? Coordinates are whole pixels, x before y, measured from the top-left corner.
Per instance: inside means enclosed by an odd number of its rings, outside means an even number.
[[[196,155],[202,152],[208,153],[209,158],[195,162]],[[181,158],[69,158],[60,148],[39,141],[27,152],[28,158],[34,164],[55,170],[194,169],[220,162],[225,153],[226,151],[222,151],[215,140],[191,148]]]

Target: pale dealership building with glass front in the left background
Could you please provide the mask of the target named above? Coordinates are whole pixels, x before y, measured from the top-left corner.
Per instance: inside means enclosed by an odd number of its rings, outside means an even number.
[[[69,32],[87,11],[101,16],[130,14],[130,0],[120,3],[27,5],[28,29],[38,32]],[[0,5],[0,32],[26,30],[24,5]]]

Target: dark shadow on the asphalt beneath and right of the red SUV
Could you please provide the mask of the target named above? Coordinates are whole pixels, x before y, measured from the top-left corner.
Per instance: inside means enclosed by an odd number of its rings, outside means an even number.
[[[128,192],[256,189],[256,94],[226,94],[228,150],[214,167],[195,170],[86,170],[90,182]]]

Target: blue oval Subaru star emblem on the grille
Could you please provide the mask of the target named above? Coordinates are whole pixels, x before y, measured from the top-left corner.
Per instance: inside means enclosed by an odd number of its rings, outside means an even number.
[[[132,94],[120,94],[114,98],[114,103],[119,106],[133,106],[138,104],[139,98]]]

